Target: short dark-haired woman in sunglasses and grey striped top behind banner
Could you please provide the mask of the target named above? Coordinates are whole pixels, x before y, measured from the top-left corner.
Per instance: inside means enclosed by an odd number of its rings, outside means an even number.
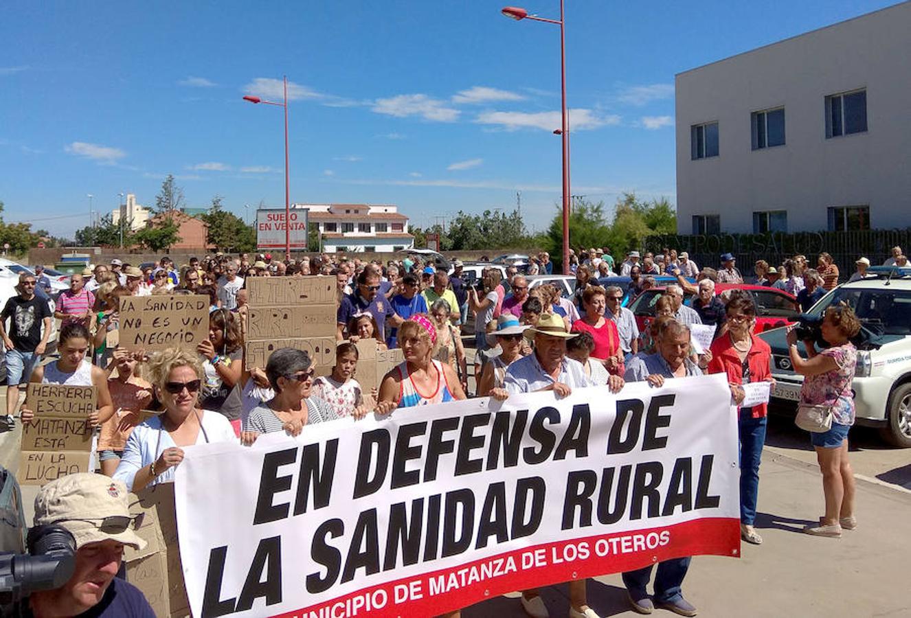
[[[275,396],[253,408],[243,421],[241,442],[251,445],[262,433],[285,431],[296,436],[304,425],[340,418],[333,407],[312,396],[313,363],[303,350],[281,348],[266,363]]]

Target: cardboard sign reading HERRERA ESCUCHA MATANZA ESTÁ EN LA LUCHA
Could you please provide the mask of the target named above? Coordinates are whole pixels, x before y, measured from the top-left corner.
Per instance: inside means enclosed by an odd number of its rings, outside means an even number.
[[[67,474],[89,471],[89,417],[96,401],[94,386],[28,385],[26,405],[35,412],[35,418],[22,426],[22,455],[16,474],[20,484],[43,485]]]

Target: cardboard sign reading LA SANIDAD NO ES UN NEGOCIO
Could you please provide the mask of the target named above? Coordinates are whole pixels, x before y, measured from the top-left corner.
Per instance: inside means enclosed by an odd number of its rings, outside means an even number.
[[[209,338],[208,296],[124,296],[119,312],[119,344],[127,350],[196,350]]]

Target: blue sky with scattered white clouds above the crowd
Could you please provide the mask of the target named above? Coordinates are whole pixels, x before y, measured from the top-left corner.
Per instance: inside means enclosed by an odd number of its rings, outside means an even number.
[[[676,73],[893,4],[568,0],[572,193],[673,200]],[[189,206],[283,205],[281,108],[241,96],[278,99],[286,73],[292,201],[392,203],[428,225],[521,190],[543,228],[560,199],[559,30],[502,5],[5,3],[5,221],[71,235],[87,194],[148,205],[168,173]]]

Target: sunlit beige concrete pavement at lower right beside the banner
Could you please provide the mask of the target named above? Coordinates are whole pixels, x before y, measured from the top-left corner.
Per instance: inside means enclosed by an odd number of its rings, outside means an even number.
[[[822,512],[818,468],[766,450],[756,521],[763,544],[743,543],[740,559],[695,557],[684,595],[705,618],[911,616],[911,494],[857,481],[859,527],[841,539],[801,532]],[[517,596],[478,603],[462,615],[524,616]],[[552,618],[568,614],[565,585],[542,590],[542,598]],[[589,605],[602,618],[640,615],[630,610],[619,574],[589,582]],[[652,615],[676,614],[655,610]]]

